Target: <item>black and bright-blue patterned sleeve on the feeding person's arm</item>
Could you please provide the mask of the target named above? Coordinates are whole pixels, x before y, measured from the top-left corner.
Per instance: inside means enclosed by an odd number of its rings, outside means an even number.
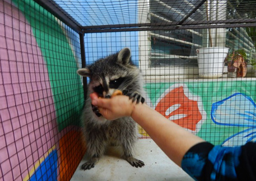
[[[255,161],[256,143],[222,147],[203,142],[187,151],[182,169],[198,181],[256,180]]]

